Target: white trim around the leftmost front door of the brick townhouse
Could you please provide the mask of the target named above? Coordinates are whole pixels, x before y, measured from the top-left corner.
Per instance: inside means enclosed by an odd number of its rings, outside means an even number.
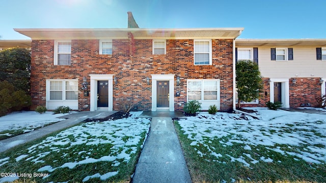
[[[97,109],[97,81],[108,81],[108,111],[113,110],[113,76],[114,74],[90,74],[91,77],[91,89],[90,89],[90,111],[96,111]]]

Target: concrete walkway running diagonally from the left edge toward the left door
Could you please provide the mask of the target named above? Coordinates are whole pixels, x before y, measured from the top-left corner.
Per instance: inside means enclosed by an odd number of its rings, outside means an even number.
[[[67,118],[67,119],[29,133],[21,134],[5,140],[0,140],[0,153],[16,145],[30,142],[38,138],[44,137],[50,133],[75,126],[79,123],[82,123],[88,118],[95,119],[95,120],[102,119],[116,112],[117,111],[83,111],[83,112],[77,112],[77,113],[61,116],[60,118]]]

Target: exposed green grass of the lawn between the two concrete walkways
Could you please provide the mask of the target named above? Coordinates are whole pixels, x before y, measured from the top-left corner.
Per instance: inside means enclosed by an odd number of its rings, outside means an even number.
[[[49,136],[55,136],[59,132],[52,133]],[[89,134],[90,135],[90,134]],[[33,177],[33,178],[20,178],[14,182],[64,182],[70,180],[69,182],[82,182],[83,178],[87,175],[93,175],[96,173],[105,174],[107,172],[119,171],[119,173],[115,176],[112,176],[104,181],[100,180],[100,178],[91,178],[87,182],[130,182],[130,176],[134,172],[135,165],[138,161],[138,158],[141,153],[140,146],[142,145],[145,139],[146,132],[141,133],[141,140],[137,145],[132,145],[128,147],[129,149],[126,150],[126,153],[130,153],[132,151],[131,148],[136,148],[136,153],[132,154],[130,160],[128,162],[123,161],[122,159],[118,159],[120,165],[113,166],[111,161],[100,161],[95,163],[87,163],[87,164],[79,164],[74,168],[58,168],[52,172],[44,171],[43,173],[49,173],[50,176],[48,178],[42,179],[42,177]],[[44,148],[37,148],[37,150],[29,153],[28,148],[41,143],[43,140],[46,139],[43,137],[41,139],[37,139],[35,141],[19,145],[16,147],[11,148],[10,150],[5,151],[0,155],[0,159],[10,157],[9,163],[4,164],[1,166],[1,172],[20,172],[20,173],[41,173],[37,170],[41,167],[50,165],[51,167],[59,167],[67,162],[78,162],[85,160],[85,157],[99,159],[103,156],[114,156],[115,154],[121,152],[123,149],[112,149],[113,144],[111,143],[103,143],[103,144],[96,144],[96,145],[86,145],[86,144],[79,144],[69,146],[67,145],[58,145],[60,151],[53,151],[49,147]],[[90,135],[92,138],[92,136]],[[69,139],[72,136],[68,136]],[[99,137],[105,139],[104,137]],[[125,140],[131,137],[124,137]],[[38,155],[40,153],[46,153],[51,151],[50,154],[46,155],[45,157],[41,158],[39,162],[34,163],[32,161],[26,161],[26,158]],[[83,153],[82,151],[86,151]],[[78,152],[82,152],[79,153]],[[29,155],[25,159],[22,159],[16,162],[15,158],[19,157],[20,155]],[[1,164],[1,163],[0,163]]]

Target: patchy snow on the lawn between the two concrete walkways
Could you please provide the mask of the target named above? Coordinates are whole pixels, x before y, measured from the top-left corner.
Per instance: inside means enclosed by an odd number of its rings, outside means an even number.
[[[112,162],[112,166],[119,166],[121,162],[128,162],[131,155],[137,152],[138,144],[142,139],[141,134],[144,132],[148,134],[150,119],[137,118],[141,113],[142,111],[130,112],[131,116],[128,118],[89,122],[69,128],[29,147],[28,155],[17,154],[15,159],[16,161],[43,164],[37,171],[49,173],[49,179],[51,179],[51,173],[56,169],[73,169],[82,164],[105,161]],[[98,145],[105,145],[105,148],[108,148],[102,152],[103,154],[100,154],[100,157],[97,155],[99,153],[94,153],[96,150],[101,150],[99,148],[103,148],[103,146],[99,147]],[[66,161],[53,159],[52,164],[46,164],[47,156],[53,155],[60,157],[60,159],[66,159]],[[97,157],[94,157],[95,155]],[[6,163],[7,160],[0,160],[0,164]],[[103,175],[99,173],[85,175],[83,181],[94,177],[105,180],[117,173],[114,171]]]

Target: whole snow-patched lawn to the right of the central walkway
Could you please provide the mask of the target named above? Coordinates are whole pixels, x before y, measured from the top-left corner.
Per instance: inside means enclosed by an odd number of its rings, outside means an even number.
[[[254,109],[175,121],[192,180],[326,182],[326,115]]]

